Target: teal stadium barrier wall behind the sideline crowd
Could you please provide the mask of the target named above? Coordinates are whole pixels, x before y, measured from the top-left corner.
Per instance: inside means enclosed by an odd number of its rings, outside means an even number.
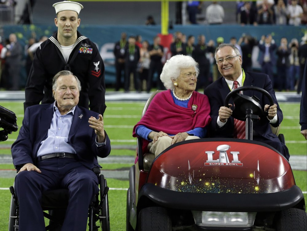
[[[10,33],[16,33],[18,41],[21,45],[26,45],[28,39],[34,35],[36,38],[46,35],[51,36],[56,30],[55,25],[4,25],[3,37],[8,38]],[[106,84],[115,83],[115,68],[114,68],[114,54],[113,48],[115,42],[120,39],[120,34],[126,32],[127,36],[141,35],[144,40],[148,40],[150,44],[153,42],[153,37],[161,32],[160,25],[83,25],[78,28],[80,33],[95,42],[99,48],[100,54],[103,58],[106,67]],[[217,37],[223,37],[225,42],[229,42],[231,37],[239,39],[242,34],[251,35],[257,40],[260,40],[262,35],[272,34],[273,39],[280,44],[280,39],[286,37],[288,42],[292,38],[296,38],[301,42],[301,37],[306,32],[306,26],[292,26],[292,25],[173,25],[169,28],[169,33],[173,34],[176,31],[181,31],[187,37],[193,35],[196,38],[200,34],[206,36],[206,41],[214,40]],[[4,39],[2,39],[4,40]],[[259,64],[255,62],[253,68],[258,69]],[[25,75],[25,71],[22,71],[21,75]],[[27,76],[23,76],[26,79]]]

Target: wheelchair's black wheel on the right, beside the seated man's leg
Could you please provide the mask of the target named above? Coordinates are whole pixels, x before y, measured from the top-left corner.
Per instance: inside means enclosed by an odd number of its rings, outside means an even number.
[[[103,190],[107,187],[107,180],[104,178],[103,175],[100,175],[100,200],[103,195]],[[100,225],[102,231],[110,231],[110,214],[109,214],[109,201],[108,201],[108,194],[104,198],[104,201],[102,203],[102,208],[100,211],[101,217],[105,218],[99,218]]]

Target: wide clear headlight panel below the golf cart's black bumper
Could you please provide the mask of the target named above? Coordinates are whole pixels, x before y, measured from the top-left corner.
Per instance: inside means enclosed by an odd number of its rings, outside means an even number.
[[[254,224],[256,213],[192,211],[196,225],[249,227]]]

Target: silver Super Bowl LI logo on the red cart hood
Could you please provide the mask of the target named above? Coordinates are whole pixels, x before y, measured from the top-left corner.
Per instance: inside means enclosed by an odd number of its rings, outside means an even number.
[[[231,151],[230,154],[233,157],[233,160],[229,162],[227,150],[230,148],[229,145],[223,144],[220,146],[217,146],[216,151],[220,152],[219,159],[213,160],[213,154],[214,151],[205,151],[205,153],[208,155],[208,160],[205,162],[205,165],[209,166],[243,166],[243,163],[239,161],[238,155],[240,154],[238,151]]]

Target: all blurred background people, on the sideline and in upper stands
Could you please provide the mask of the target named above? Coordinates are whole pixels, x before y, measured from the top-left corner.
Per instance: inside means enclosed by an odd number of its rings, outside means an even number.
[[[36,1],[29,1],[34,6]],[[302,25],[307,23],[307,0],[257,0],[252,2],[232,2],[236,8],[236,22],[240,25]],[[4,6],[16,5],[14,0],[0,0],[0,9]],[[207,3],[208,5],[208,3]],[[28,7],[28,6],[27,6]],[[212,1],[206,7],[204,2],[178,2],[185,7],[190,24],[216,25],[227,21],[223,2]],[[29,10],[26,8],[21,16],[20,23],[29,23]],[[227,10],[227,9],[226,9]],[[179,15],[177,23],[181,23]],[[152,15],[146,18],[146,25],[156,25]],[[171,25],[170,25],[171,26]],[[49,35],[51,36],[51,34]],[[0,37],[0,88],[6,90],[21,90],[25,87],[33,57],[39,45],[48,39],[46,36],[37,38],[35,33],[27,39],[22,47],[15,34],[9,37]],[[288,37],[289,39],[289,37]],[[307,37],[300,39],[293,35],[291,40],[282,38],[274,41],[274,35],[264,34],[261,37],[252,37],[242,34],[240,37],[234,32],[230,41],[223,37],[206,40],[206,34],[200,33],[197,37],[177,31],[173,34],[173,41],[165,51],[161,46],[161,38],[156,36],[152,41],[142,40],[142,34],[134,35],[123,32],[118,41],[114,41],[114,84],[107,85],[125,92],[150,92],[152,88],[164,89],[159,76],[166,59],[176,54],[192,56],[200,66],[197,89],[202,91],[208,84],[220,77],[217,70],[214,52],[221,43],[232,43],[240,50],[245,71],[259,71],[270,76],[276,91],[301,92],[303,68],[307,57]],[[168,52],[166,54],[165,52]],[[166,57],[166,59],[165,59]],[[261,66],[253,69],[255,60]],[[25,75],[20,70],[25,69]],[[24,77],[25,76],[25,77]]]

